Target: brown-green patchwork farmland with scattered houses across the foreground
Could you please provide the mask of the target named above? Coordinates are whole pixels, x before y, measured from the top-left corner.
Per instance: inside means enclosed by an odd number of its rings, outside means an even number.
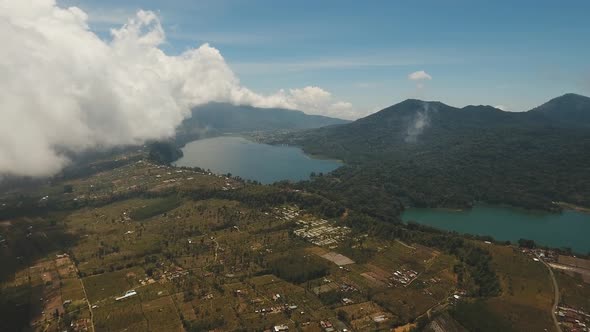
[[[500,282],[480,298],[461,256],[369,235],[311,193],[132,160],[27,195],[2,198],[31,206],[0,228],[3,331],[552,326],[546,270],[517,248],[465,240]]]

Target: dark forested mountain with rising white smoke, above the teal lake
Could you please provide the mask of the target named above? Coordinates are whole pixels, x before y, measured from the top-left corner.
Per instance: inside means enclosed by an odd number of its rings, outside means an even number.
[[[380,217],[402,205],[477,201],[557,209],[590,206],[589,98],[567,94],[529,112],[406,100],[353,123],[275,142],[342,159],[308,186]]]

